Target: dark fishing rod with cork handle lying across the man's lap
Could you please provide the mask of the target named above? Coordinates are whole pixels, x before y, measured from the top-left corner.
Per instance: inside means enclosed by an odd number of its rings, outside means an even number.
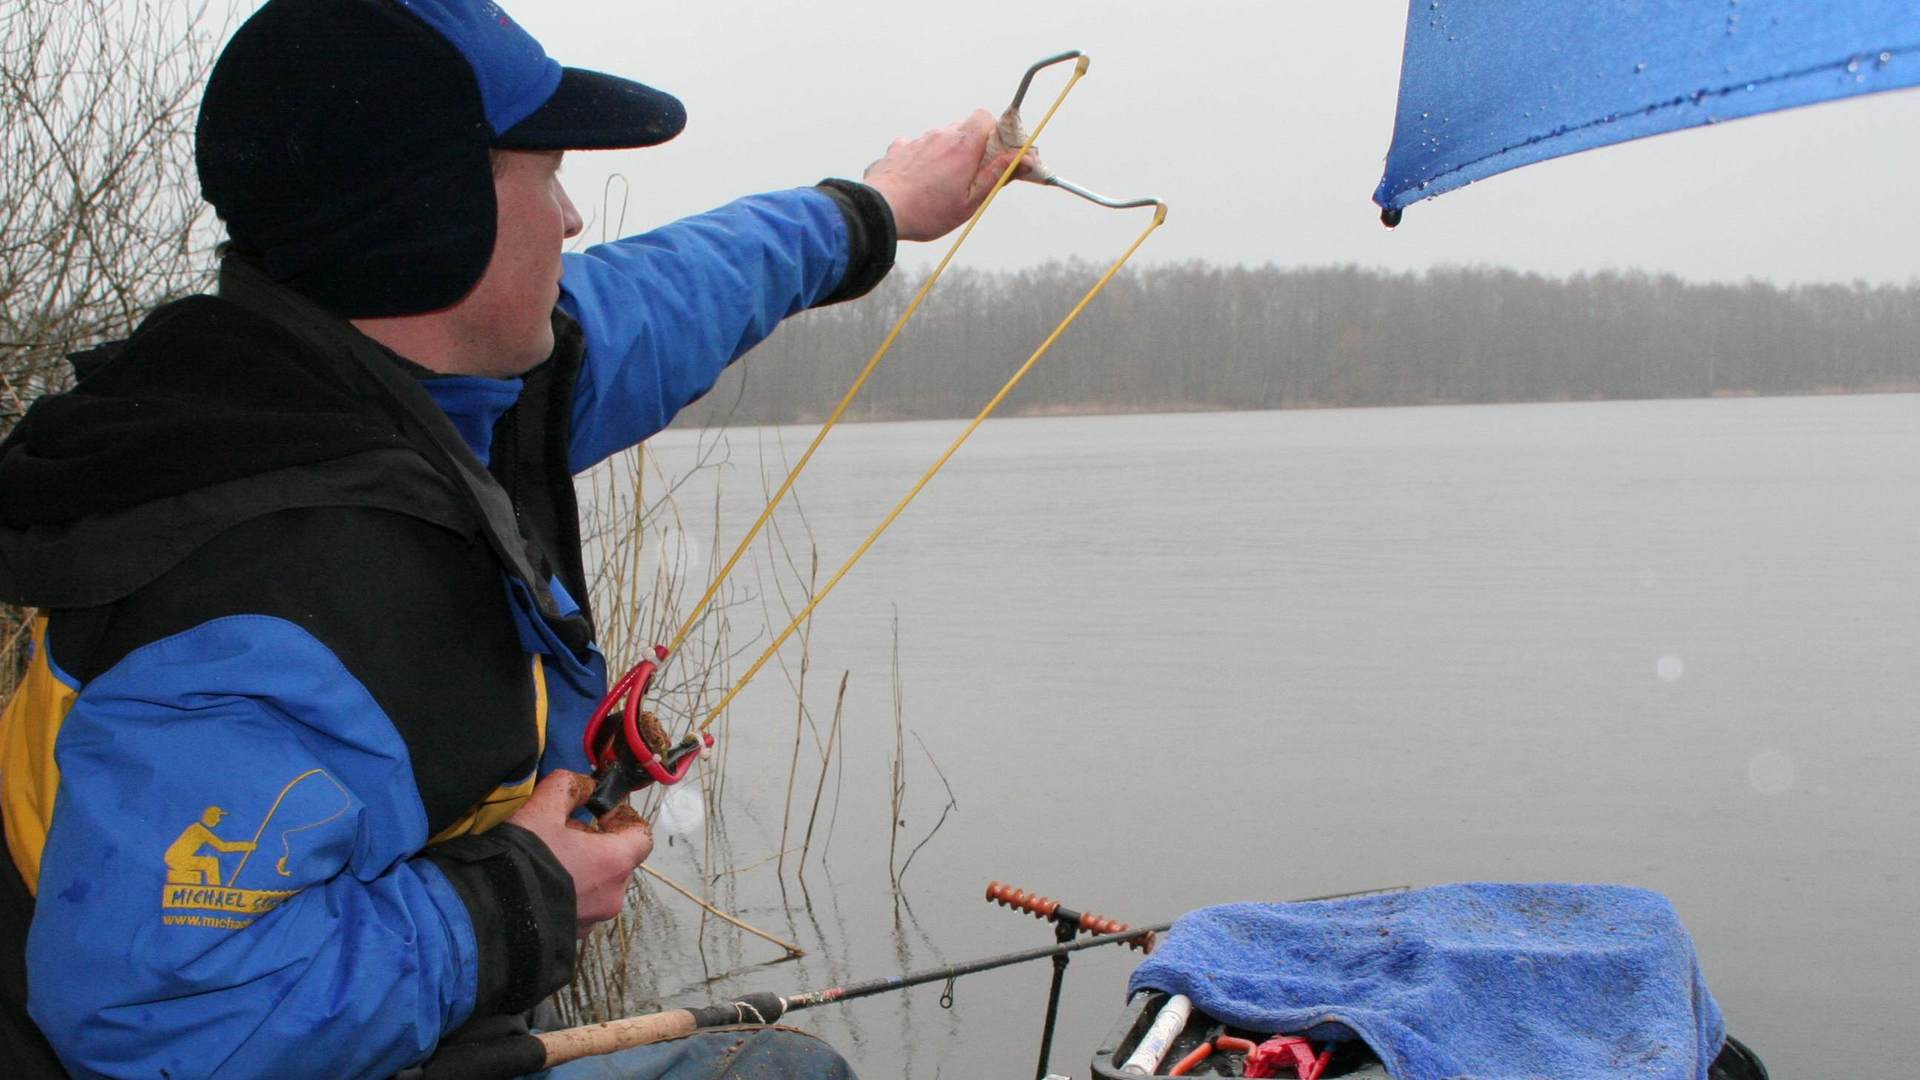
[[[747,994],[745,997],[737,997],[733,1001],[703,1005],[699,1009],[668,1009],[662,1013],[626,1017],[622,1020],[564,1028],[559,1032],[459,1042],[442,1047],[440,1053],[436,1053],[428,1063],[417,1070],[409,1070],[405,1076],[409,1080],[513,1080],[515,1076],[526,1076],[530,1072],[553,1068],[555,1065],[564,1065],[582,1057],[597,1057],[603,1053],[632,1049],[636,1045],[685,1038],[705,1028],[732,1028],[743,1024],[764,1026],[780,1020],[787,1013],[812,1009],[816,1005],[833,1005],[837,1001],[891,994],[910,986],[925,986],[929,982],[952,982],[966,974],[1044,961],[1050,957],[1077,953],[1081,949],[1133,944],[1150,934],[1162,934],[1171,926],[1173,922],[1139,926],[1114,934],[1081,938],[1077,942],[1037,945],[1018,953],[916,970],[910,974],[891,974],[868,982],[806,990],[785,997],[778,994]],[[950,999],[952,997],[948,994],[947,1001]]]

